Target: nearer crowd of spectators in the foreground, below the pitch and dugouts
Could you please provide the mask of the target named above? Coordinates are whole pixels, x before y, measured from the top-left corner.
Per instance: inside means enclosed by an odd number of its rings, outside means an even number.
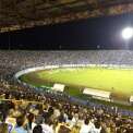
[[[69,97],[1,84],[0,98],[0,133],[133,132],[133,118],[69,102]]]

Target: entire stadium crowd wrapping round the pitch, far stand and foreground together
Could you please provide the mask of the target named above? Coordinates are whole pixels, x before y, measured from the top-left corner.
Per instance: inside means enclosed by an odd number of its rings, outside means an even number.
[[[70,102],[63,94],[39,93],[11,80],[19,70],[36,65],[131,65],[132,56],[132,51],[106,50],[0,51],[0,133],[133,133],[131,117]]]

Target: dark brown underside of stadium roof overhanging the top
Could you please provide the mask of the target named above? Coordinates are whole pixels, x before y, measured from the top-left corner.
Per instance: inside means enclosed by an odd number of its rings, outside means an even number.
[[[0,32],[133,12],[133,0],[0,0]]]

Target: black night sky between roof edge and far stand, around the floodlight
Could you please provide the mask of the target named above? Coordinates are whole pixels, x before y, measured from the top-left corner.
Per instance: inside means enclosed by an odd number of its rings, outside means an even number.
[[[133,49],[121,37],[133,14],[104,16],[0,34],[0,49]]]

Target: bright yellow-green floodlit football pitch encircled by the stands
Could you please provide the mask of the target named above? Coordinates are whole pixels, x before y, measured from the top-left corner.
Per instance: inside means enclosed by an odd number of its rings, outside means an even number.
[[[85,87],[112,92],[118,96],[133,95],[133,69],[60,68],[32,72],[21,76],[25,83],[37,87],[65,84],[65,92],[82,96]]]

